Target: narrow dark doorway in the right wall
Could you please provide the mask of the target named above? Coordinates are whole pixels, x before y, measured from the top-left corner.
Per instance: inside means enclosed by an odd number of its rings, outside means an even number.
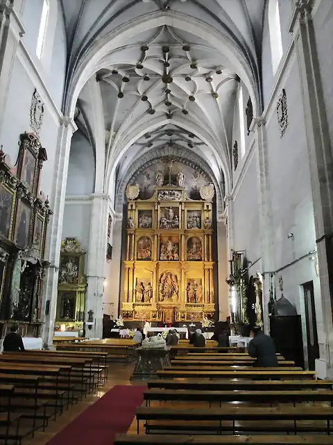
[[[314,306],[314,283],[303,284],[305,301],[305,323],[307,326],[307,357],[309,370],[315,370],[315,360],[319,358],[319,345],[316,323],[316,308]]]

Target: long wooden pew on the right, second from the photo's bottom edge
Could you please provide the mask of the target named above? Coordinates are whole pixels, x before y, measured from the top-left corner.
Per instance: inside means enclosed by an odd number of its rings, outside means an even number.
[[[269,432],[284,431],[294,432],[327,432],[330,434],[330,421],[333,420],[332,407],[290,407],[288,405],[278,408],[269,407],[233,407],[225,408],[211,408],[210,410],[198,410],[194,408],[187,409],[170,409],[160,407],[138,407],[136,410],[137,418],[137,434],[139,434],[139,421],[145,421],[146,433],[152,430],[198,430],[201,431],[203,426],[200,422],[215,421],[215,425],[210,427],[210,430],[215,431],[216,434],[221,434],[222,431],[232,431],[232,434],[239,431],[259,431]],[[148,421],[162,421],[161,423],[148,423]],[[169,425],[165,421],[171,421]],[[184,421],[183,424],[176,425],[176,422]],[[188,422],[194,421],[194,426],[189,426]],[[222,422],[231,421],[232,425],[222,426]],[[243,421],[260,421],[257,426],[239,426],[235,422]],[[267,421],[267,423],[263,423]],[[289,421],[283,425],[276,425],[277,421]],[[325,426],[313,426],[308,424],[297,425],[298,421],[325,421]]]

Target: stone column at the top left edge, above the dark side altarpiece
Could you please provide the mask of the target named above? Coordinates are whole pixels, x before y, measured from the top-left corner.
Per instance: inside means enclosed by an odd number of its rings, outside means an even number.
[[[15,1],[16,10],[13,10],[12,0],[0,0],[0,134],[17,45],[26,33],[17,15],[20,6],[21,0]]]

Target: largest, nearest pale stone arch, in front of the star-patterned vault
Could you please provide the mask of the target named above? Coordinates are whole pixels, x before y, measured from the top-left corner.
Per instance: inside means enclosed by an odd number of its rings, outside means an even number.
[[[237,44],[232,42],[231,38],[228,38],[228,36],[221,33],[214,26],[190,17],[189,15],[179,12],[176,13],[171,10],[167,12],[156,11],[132,19],[126,24],[117,26],[116,29],[107,33],[103,38],[96,40],[92,47],[86,49],[82,58],[78,60],[74,75],[69,79],[64,104],[65,114],[71,117],[74,116],[76,100],[78,99],[80,90],[82,90],[87,80],[96,72],[96,65],[98,65],[101,58],[106,56],[112,49],[122,46],[123,42],[127,39],[163,25],[173,26],[192,35],[197,35],[226,56],[228,60],[230,60],[230,65],[246,85],[249,95],[253,100],[255,115],[260,114],[260,95],[256,86],[255,76]]]

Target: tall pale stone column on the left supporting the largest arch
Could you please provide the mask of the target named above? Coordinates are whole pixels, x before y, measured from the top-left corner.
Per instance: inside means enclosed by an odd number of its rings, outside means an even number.
[[[64,218],[69,151],[71,136],[74,131],[76,131],[74,122],[70,118],[63,118],[58,131],[56,147],[55,159],[57,159],[58,162],[55,164],[52,193],[49,197],[53,216],[51,216],[48,227],[49,236],[46,240],[45,253],[45,259],[51,263],[51,266],[46,270],[44,296],[42,300],[42,316],[45,313],[46,301],[50,302],[49,314],[45,314],[43,320],[42,338],[45,346],[52,344],[54,322],[56,320],[62,221]]]

